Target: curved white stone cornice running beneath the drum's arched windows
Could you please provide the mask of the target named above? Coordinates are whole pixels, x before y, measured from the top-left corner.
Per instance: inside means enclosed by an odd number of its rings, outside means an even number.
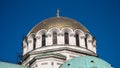
[[[50,47],[50,48],[49,48]],[[30,52],[31,54],[37,54],[37,53],[46,53],[46,52],[55,52],[55,51],[61,51],[61,50],[69,50],[69,51],[73,51],[73,52],[76,52],[76,53],[81,53],[81,54],[85,54],[85,55],[92,55],[92,56],[97,56],[97,54],[94,52],[94,51],[91,51],[89,49],[86,49],[86,48],[83,48],[83,47],[76,47],[76,46],[73,46],[73,45],[59,45],[59,46],[56,46],[56,48],[51,48],[51,47],[55,47],[55,46],[49,46],[48,49],[47,46],[45,47],[45,50],[42,50],[42,51],[34,51],[33,52]],[[73,48],[74,47],[74,48]],[[77,48],[77,49],[76,49]],[[78,49],[80,48],[80,49]]]

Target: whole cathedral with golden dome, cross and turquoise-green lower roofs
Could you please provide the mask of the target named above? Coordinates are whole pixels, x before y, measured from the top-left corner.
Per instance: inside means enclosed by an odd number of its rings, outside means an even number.
[[[34,26],[22,44],[21,64],[0,68],[113,68],[96,53],[96,39],[80,22],[59,15]]]

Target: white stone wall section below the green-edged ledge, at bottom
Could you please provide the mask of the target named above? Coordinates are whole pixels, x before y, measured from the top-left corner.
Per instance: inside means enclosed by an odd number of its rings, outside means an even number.
[[[57,58],[37,59],[30,65],[30,68],[59,68],[64,60]]]

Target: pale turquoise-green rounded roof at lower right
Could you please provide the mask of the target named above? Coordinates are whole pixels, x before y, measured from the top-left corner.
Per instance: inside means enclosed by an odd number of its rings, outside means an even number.
[[[80,56],[68,60],[60,68],[112,68],[109,63],[92,56]]]

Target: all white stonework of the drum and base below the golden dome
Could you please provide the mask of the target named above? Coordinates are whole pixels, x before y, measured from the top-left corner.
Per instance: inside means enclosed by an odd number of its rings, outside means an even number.
[[[53,44],[53,33],[57,33],[57,44]],[[64,33],[67,32],[69,36],[69,44],[65,44],[65,38],[64,38]],[[42,35],[46,35],[46,45],[45,47],[42,47]],[[76,46],[76,34],[79,35],[79,46]],[[85,41],[86,38],[86,41]],[[34,40],[36,39],[36,41]],[[35,44],[35,45],[34,45]],[[87,44],[87,46],[86,46]],[[35,46],[35,49],[33,48]],[[60,47],[61,46],[61,47]],[[66,47],[64,47],[66,46]],[[50,47],[50,48],[49,48]],[[81,52],[86,52],[91,54],[96,53],[96,40],[93,38],[93,36],[90,33],[84,33],[80,29],[72,30],[71,28],[63,28],[59,29],[56,27],[53,27],[49,30],[39,30],[37,33],[32,33],[28,37],[26,37],[23,40],[23,57],[29,53],[31,54],[32,52],[41,52],[48,51],[49,50],[55,50],[55,49],[60,49],[60,48],[71,48],[73,50],[77,50],[78,52],[74,51],[55,51],[52,53],[60,53],[62,55],[66,56],[66,60],[69,60],[71,58],[77,57],[77,56],[84,56],[86,54],[79,53]],[[34,61],[32,65],[28,65],[29,62],[37,56],[38,53],[34,55],[30,55],[30,57],[27,60],[23,60],[23,65],[30,66],[31,68],[59,68],[59,64],[63,63],[64,61],[58,60],[58,59],[53,59],[53,58],[47,58],[46,59],[40,59]],[[92,55],[92,54],[91,54]],[[52,63],[54,65],[52,65]]]

